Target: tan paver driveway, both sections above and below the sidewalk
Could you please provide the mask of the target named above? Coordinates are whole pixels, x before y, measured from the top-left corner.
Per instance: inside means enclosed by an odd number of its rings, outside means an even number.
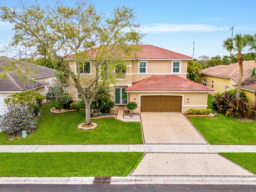
[[[182,113],[142,112],[140,115],[144,144],[209,145]],[[256,177],[217,152],[146,152],[129,176]]]

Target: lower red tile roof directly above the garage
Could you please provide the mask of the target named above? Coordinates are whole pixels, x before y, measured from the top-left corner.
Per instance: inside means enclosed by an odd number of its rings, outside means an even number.
[[[178,75],[152,75],[136,82],[136,84],[127,88],[126,91],[212,92],[214,90]]]

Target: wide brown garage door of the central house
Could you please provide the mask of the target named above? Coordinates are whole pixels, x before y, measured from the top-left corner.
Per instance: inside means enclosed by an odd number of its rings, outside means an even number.
[[[182,96],[141,96],[141,112],[181,112]]]

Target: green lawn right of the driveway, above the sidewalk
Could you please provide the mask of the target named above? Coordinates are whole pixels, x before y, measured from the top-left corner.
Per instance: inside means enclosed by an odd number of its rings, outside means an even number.
[[[208,106],[211,107],[208,98]],[[245,122],[217,113],[218,118],[189,118],[210,144],[256,145],[256,122]]]

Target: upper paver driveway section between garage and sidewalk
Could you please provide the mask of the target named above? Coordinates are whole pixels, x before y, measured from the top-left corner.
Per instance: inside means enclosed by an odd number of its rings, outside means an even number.
[[[208,144],[182,113],[142,112],[144,144]]]

